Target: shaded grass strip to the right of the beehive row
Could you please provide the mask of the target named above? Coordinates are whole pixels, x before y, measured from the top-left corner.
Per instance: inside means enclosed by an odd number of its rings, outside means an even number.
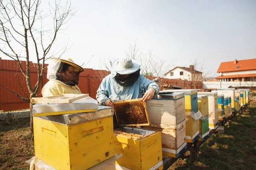
[[[255,170],[256,169],[256,104],[229,121],[224,134],[212,134],[200,147],[198,161],[178,159],[169,170]]]

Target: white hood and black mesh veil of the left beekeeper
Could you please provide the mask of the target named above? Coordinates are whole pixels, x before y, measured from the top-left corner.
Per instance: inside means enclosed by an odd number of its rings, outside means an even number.
[[[69,78],[64,78],[67,75],[68,67],[73,66],[75,70],[69,73]],[[74,86],[78,85],[79,74],[84,71],[84,68],[74,63],[73,59],[69,57],[62,58],[51,58],[48,65],[47,79],[49,80],[59,80],[66,85]],[[62,75],[61,75],[62,73]]]

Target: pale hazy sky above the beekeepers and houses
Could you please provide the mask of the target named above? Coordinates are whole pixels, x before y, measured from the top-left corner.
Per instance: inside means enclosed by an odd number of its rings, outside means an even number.
[[[136,42],[169,69],[195,60],[207,77],[221,62],[256,58],[255,0],[71,0],[76,14],[55,44],[85,68],[125,56]],[[3,59],[7,59],[2,57]]]

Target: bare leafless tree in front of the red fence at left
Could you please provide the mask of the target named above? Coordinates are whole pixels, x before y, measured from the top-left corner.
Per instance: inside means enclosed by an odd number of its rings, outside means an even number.
[[[49,11],[43,9],[41,3],[41,0],[0,0],[0,52],[17,62],[17,83],[22,88],[23,95],[2,86],[26,102],[30,102],[30,99],[38,94],[46,68],[44,62],[53,56],[60,57],[67,51],[66,45],[59,51],[56,51],[56,48],[52,51],[52,46],[58,32],[64,30],[63,26],[75,13],[69,0],[64,5],[60,0],[51,1]],[[35,57],[38,79],[35,85],[32,85],[32,66],[29,61]],[[25,60],[26,65],[22,64],[22,60]],[[20,83],[20,72],[26,79],[29,94]],[[31,103],[30,109],[32,110]],[[33,132],[32,113],[30,125]]]

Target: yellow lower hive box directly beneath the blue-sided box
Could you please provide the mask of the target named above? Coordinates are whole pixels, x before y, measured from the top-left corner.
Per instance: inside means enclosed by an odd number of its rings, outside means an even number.
[[[186,136],[194,136],[199,131],[199,119],[193,120],[191,116],[186,116],[189,120],[186,122]],[[192,140],[186,139],[187,142]]]

